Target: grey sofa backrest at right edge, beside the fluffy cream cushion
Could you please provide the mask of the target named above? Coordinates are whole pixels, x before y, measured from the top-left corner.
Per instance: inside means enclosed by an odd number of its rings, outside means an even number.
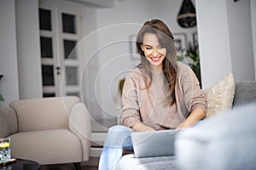
[[[256,82],[236,82],[233,105],[256,101]]]

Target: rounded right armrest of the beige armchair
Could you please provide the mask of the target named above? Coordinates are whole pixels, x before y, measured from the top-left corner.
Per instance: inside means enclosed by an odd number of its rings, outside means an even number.
[[[73,105],[69,115],[69,129],[81,140],[83,147],[83,160],[89,161],[90,157],[90,114],[83,103]]]

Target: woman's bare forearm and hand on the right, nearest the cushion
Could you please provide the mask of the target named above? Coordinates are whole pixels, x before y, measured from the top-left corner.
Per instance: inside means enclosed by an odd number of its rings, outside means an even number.
[[[205,118],[205,116],[205,111],[203,111],[202,109],[195,109],[190,113],[188,118],[177,127],[177,129],[192,127],[195,124],[195,122],[201,121],[203,118]]]

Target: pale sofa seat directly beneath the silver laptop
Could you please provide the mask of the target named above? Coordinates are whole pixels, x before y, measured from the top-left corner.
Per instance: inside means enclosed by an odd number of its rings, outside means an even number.
[[[133,154],[125,155],[121,158],[116,168],[117,170],[177,170],[175,156],[158,156],[136,158]]]

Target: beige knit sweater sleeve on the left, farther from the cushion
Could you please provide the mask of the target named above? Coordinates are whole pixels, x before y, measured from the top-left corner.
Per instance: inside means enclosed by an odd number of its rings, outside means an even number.
[[[125,85],[122,95],[122,123],[126,127],[132,127],[137,122],[141,122],[139,105],[137,101],[137,73],[131,71],[125,78]]]

